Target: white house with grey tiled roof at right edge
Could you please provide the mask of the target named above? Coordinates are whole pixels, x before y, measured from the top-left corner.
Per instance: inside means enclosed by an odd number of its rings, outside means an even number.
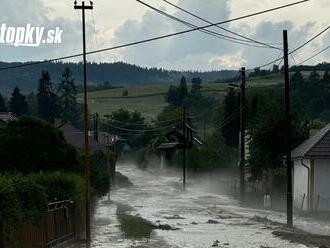
[[[291,155],[294,207],[330,211],[330,124],[316,131]]]

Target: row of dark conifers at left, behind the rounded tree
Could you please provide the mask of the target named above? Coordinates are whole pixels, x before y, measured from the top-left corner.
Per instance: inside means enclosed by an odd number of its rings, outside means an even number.
[[[42,71],[37,94],[22,94],[15,87],[8,101],[0,95],[0,112],[10,111],[17,116],[35,116],[48,122],[61,118],[78,126],[81,122],[81,107],[77,103],[77,88],[72,71],[66,67],[62,72],[60,84],[54,89],[48,71]]]

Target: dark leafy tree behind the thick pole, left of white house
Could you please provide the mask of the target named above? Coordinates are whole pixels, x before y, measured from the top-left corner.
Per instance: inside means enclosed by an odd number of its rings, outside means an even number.
[[[257,113],[249,125],[249,165],[254,178],[283,166],[285,155],[285,130],[283,95],[264,90],[258,96]],[[279,94],[277,94],[279,93]],[[291,111],[291,149],[299,145],[309,134],[309,120],[296,109]]]

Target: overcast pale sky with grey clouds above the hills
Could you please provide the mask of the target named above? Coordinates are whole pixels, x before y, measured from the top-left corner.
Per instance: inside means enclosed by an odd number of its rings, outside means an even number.
[[[162,0],[145,1],[195,25],[205,24],[175,10]],[[170,1],[212,22],[219,22],[294,0]],[[81,52],[81,13],[73,9],[73,1],[0,0],[0,3],[0,24],[17,27],[31,23],[34,26],[63,29],[62,44],[41,45],[38,48],[17,48],[0,44],[1,61],[44,60]],[[282,30],[288,29],[290,48],[294,48],[329,25],[329,13],[329,0],[311,0],[285,10],[226,24],[223,27],[278,46],[282,43]],[[95,0],[94,10],[87,11],[86,18],[88,50],[187,29],[183,24],[152,12],[135,0]],[[212,30],[224,33],[216,28]],[[291,64],[299,63],[330,45],[329,41],[330,31],[294,54]],[[241,66],[254,68],[279,56],[280,52],[277,50],[246,47],[194,32],[134,48],[89,56],[88,59],[95,62],[124,61],[170,69],[219,70],[238,69]],[[326,52],[310,63],[319,63],[329,58],[330,52]]]

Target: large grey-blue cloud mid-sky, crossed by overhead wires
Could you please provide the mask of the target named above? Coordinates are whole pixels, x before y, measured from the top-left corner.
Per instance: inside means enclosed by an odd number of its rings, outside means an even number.
[[[205,4],[205,0],[180,0],[178,5],[200,16],[210,18],[214,22],[225,20],[230,15],[229,1],[227,0],[210,0],[207,4]],[[163,10],[166,11],[166,8],[163,7]],[[205,24],[180,12],[175,12],[174,15],[196,25]],[[126,21],[115,32],[114,44],[155,37],[187,28],[180,23],[178,24],[157,13],[148,11],[141,21]],[[217,29],[213,30],[219,31]],[[168,65],[169,67],[175,64],[178,66],[177,68],[191,69],[191,62],[194,61],[197,65],[195,67],[206,70],[211,66],[209,61],[213,57],[224,55],[232,49],[233,47],[226,41],[194,32],[135,48],[128,48],[120,51],[120,53],[124,60],[137,64],[155,65],[156,63]],[[203,60],[198,65],[196,58],[199,56]],[[178,64],[179,61],[180,64]]]

